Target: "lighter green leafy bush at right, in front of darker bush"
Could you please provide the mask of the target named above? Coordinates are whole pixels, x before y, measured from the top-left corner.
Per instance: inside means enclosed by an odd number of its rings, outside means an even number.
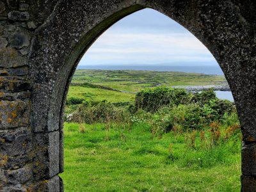
[[[214,121],[227,122],[228,125],[239,124],[235,114],[232,102],[217,99],[209,100],[209,104],[204,106],[191,103],[163,107],[148,120],[153,120],[154,125],[161,125],[165,132],[177,129],[193,131],[205,129]]]

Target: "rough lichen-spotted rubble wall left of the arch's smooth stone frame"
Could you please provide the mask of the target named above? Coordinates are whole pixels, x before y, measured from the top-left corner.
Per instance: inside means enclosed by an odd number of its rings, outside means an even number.
[[[36,180],[40,166],[48,166],[47,161],[35,166],[37,153],[45,152],[47,158],[48,151],[43,146],[47,138],[38,138],[31,131],[33,85],[28,61],[35,30],[52,12],[54,4],[56,1],[0,1],[0,191],[60,188],[56,185],[60,186],[58,176]],[[54,137],[49,136],[52,141]],[[42,145],[33,144],[35,140]]]

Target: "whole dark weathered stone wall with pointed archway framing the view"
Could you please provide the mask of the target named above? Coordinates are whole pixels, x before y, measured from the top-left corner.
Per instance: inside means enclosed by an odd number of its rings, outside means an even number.
[[[243,131],[242,191],[255,191],[253,0],[1,0],[0,190],[63,191],[62,111],[76,65],[109,26],[145,7],[191,31],[220,64]]]

